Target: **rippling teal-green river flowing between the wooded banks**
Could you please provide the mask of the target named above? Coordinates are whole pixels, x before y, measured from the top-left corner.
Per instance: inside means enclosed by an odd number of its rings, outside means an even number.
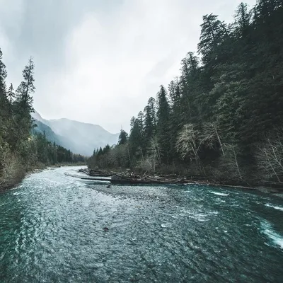
[[[65,174],[77,169],[0,192],[1,283],[283,282],[283,199],[200,185],[108,188]]]

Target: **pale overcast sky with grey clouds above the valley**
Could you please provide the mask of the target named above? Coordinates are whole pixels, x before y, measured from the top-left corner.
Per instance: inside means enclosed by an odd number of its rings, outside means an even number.
[[[110,132],[143,110],[195,51],[202,16],[231,22],[240,0],[0,0],[0,47],[15,87],[30,55],[34,107]],[[252,7],[255,0],[246,3]]]

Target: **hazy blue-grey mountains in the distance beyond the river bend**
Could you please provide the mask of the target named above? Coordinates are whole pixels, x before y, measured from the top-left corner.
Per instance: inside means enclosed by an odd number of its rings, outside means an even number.
[[[35,111],[33,119],[38,124],[42,123],[54,132],[57,144],[70,149],[75,154],[91,156],[93,150],[106,144],[117,144],[119,134],[111,134],[99,125],[78,122],[69,119],[45,120]],[[42,125],[40,124],[42,128]],[[45,131],[46,132],[46,131]],[[47,137],[48,138],[48,137]],[[56,141],[55,141],[56,142]]]

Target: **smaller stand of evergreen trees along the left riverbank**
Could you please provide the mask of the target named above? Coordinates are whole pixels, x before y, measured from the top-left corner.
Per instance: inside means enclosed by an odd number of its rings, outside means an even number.
[[[33,110],[33,59],[23,69],[23,81],[14,90],[6,84],[6,66],[0,50],[0,189],[18,183],[25,173],[57,163],[84,162],[85,157],[73,154],[35,133]]]

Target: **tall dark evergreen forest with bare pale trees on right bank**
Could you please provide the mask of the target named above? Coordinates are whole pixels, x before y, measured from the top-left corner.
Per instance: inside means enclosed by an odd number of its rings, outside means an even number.
[[[197,54],[88,166],[278,185],[282,122],[283,1],[242,3],[233,23],[203,16]]]

